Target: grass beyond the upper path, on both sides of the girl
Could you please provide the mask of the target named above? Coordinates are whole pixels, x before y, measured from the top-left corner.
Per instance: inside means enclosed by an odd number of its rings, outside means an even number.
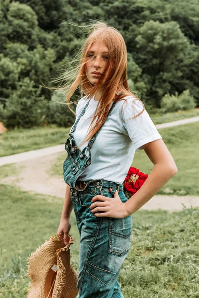
[[[199,109],[168,113],[164,116],[160,114],[150,116],[154,124],[159,124],[199,116]],[[70,127],[60,128],[55,125],[9,130],[0,135],[0,156],[64,144],[69,131]]]

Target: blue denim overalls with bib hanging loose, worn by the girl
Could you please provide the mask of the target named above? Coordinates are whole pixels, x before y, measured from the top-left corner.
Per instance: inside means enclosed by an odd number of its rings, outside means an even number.
[[[82,151],[75,148],[73,133],[90,100],[69,133],[70,137],[65,143],[68,156],[63,163],[64,181],[70,186],[71,200],[80,233],[77,298],[124,298],[117,278],[130,250],[132,216],[124,219],[97,217],[90,209],[94,196],[102,195],[114,200],[116,190],[121,201],[126,202],[123,185],[103,179],[77,181],[81,173],[91,164],[91,147],[101,129]],[[113,102],[108,115],[115,104],[116,102]],[[109,188],[112,188],[111,192]],[[100,212],[103,213],[103,211]]]

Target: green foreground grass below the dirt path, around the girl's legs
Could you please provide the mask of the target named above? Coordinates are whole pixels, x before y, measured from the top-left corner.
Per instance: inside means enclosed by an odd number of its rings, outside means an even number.
[[[57,232],[63,199],[0,185],[0,298],[25,298],[27,257]],[[130,252],[118,278],[125,298],[199,298],[199,208],[138,210]],[[71,215],[71,262],[78,271],[79,233]]]

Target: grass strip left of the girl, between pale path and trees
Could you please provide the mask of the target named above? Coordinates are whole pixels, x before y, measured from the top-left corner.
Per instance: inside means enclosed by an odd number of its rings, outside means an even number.
[[[56,126],[6,131],[0,135],[0,156],[64,144],[69,131]]]

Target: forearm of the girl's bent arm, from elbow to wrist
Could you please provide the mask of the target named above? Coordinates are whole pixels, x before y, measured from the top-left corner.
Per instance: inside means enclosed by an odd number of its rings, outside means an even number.
[[[175,168],[155,164],[142,187],[125,203],[129,215],[140,209],[177,173]]]

